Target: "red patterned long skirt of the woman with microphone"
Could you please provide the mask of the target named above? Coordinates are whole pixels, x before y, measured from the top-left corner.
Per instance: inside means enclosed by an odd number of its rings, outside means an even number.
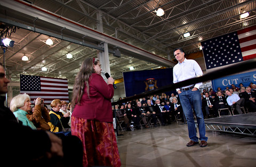
[[[71,117],[72,135],[83,143],[83,166],[121,166],[113,123]]]

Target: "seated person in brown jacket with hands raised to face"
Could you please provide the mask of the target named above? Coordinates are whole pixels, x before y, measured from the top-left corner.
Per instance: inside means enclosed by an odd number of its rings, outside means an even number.
[[[48,122],[51,120],[51,117],[47,109],[44,107],[44,99],[38,97],[34,102],[34,110],[32,108],[32,110],[28,112],[26,115],[27,118],[34,123],[37,130],[50,130],[51,128]]]

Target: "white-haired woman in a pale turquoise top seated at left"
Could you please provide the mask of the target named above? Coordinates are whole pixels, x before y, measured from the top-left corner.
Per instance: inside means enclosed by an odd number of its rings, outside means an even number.
[[[36,130],[33,122],[27,118],[28,111],[31,110],[30,97],[27,94],[21,94],[13,97],[10,109],[15,117],[22,122],[23,126],[28,126]]]

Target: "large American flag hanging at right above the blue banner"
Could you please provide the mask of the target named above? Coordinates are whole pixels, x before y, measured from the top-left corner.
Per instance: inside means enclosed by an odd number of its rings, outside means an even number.
[[[256,26],[212,38],[201,43],[206,69],[256,57]]]

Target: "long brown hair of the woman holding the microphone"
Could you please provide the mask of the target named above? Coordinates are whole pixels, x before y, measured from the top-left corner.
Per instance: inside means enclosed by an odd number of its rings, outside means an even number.
[[[94,61],[94,62],[93,62]],[[80,104],[81,98],[84,93],[84,88],[86,86],[86,93],[89,96],[89,78],[92,73],[94,73],[93,64],[97,65],[99,59],[87,58],[83,61],[80,71],[77,73],[75,84],[73,88],[71,108],[74,108],[76,104]]]

